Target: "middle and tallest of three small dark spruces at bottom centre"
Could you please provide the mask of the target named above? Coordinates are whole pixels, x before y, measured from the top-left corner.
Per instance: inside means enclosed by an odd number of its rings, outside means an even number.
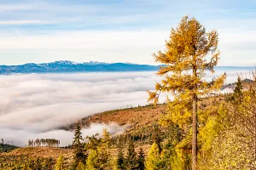
[[[133,170],[137,169],[137,153],[134,148],[133,141],[128,144],[127,154],[125,156],[125,169]]]

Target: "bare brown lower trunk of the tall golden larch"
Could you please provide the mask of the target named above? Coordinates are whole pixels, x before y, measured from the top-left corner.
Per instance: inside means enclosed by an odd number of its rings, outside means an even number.
[[[197,96],[193,96],[193,115],[192,115],[192,170],[197,169]]]

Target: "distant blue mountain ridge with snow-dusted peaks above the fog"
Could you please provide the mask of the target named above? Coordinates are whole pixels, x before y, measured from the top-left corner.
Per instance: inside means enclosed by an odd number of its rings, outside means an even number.
[[[0,74],[13,73],[60,73],[60,72],[104,72],[104,71],[157,71],[160,65],[137,65],[132,63],[104,63],[90,61],[76,63],[69,60],[60,60],[51,63],[27,63],[25,65],[0,65]],[[220,66],[236,71],[237,69],[253,69],[253,67]]]

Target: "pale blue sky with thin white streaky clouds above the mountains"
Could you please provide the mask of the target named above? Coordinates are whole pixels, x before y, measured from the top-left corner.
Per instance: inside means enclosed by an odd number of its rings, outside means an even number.
[[[68,59],[154,65],[188,14],[219,32],[219,65],[256,64],[256,1],[0,0],[0,65]]]

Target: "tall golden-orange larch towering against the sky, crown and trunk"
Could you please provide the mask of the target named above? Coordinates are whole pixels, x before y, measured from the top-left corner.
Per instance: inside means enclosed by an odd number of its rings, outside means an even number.
[[[172,28],[166,50],[154,54],[162,65],[157,74],[165,78],[156,83],[155,92],[149,92],[148,100],[156,104],[160,93],[171,92],[174,102],[180,106],[179,114],[191,106],[188,119],[192,116],[192,170],[197,169],[197,100],[211,91],[218,90],[224,83],[225,74],[212,82],[205,81],[206,71],[214,72],[218,64],[218,32],[207,32],[195,18],[183,17],[176,29]]]

